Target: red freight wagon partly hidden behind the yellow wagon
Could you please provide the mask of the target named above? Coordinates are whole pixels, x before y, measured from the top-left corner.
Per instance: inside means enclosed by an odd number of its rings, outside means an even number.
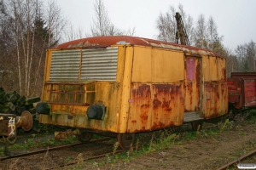
[[[256,106],[256,72],[232,72],[228,78],[229,103],[236,110]]]

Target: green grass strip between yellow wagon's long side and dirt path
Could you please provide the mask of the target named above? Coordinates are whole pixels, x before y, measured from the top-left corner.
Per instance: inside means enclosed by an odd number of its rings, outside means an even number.
[[[238,122],[238,123],[237,123]],[[160,166],[166,166],[166,162],[163,161],[161,158],[165,157],[166,160],[173,160],[176,159],[175,157],[166,157],[166,152],[164,150],[170,150],[172,148],[172,145],[179,145],[181,148],[183,148],[183,142],[185,141],[192,141],[196,139],[207,139],[207,138],[215,138],[219,134],[222,134],[226,131],[235,129],[236,127],[239,127],[243,124],[247,123],[254,123],[254,127],[256,129],[256,111],[251,111],[250,114],[243,116],[242,114],[239,116],[236,116],[236,120],[230,121],[230,119],[223,119],[221,122],[218,122],[218,127],[214,127],[212,129],[206,129],[201,130],[197,132],[184,132],[184,133],[172,133],[171,131],[168,131],[166,129],[160,130],[160,135],[156,135],[156,133],[151,133],[151,138],[148,139],[147,144],[141,143],[142,138],[138,138],[134,144],[133,147],[131,147],[131,150],[126,151],[125,153],[121,154],[113,154],[112,156],[106,156],[103,160],[100,162],[96,161],[87,161],[90,162],[91,167],[113,167],[113,164],[117,164],[118,166],[120,162],[129,162],[134,159],[137,159],[138,157],[145,156],[145,155],[151,155],[154,154],[156,151],[160,154],[160,161],[158,161],[158,164]],[[246,135],[246,132],[241,132],[239,135],[244,136]],[[115,144],[116,145],[116,144]],[[252,150],[253,147],[256,146],[256,141],[253,142],[253,144],[244,145],[243,148],[237,149],[237,155],[240,156],[241,153],[247,153],[246,150]],[[115,148],[115,147],[113,147]],[[113,153],[115,151],[113,150]],[[184,150],[184,153],[186,150]],[[184,154],[181,153],[181,154]],[[240,153],[240,154],[238,154]],[[230,160],[235,160],[236,156],[230,156]],[[177,158],[179,159],[179,158]]]

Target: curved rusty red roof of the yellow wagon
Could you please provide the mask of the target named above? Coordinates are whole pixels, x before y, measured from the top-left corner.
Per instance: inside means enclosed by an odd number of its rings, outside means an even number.
[[[65,42],[55,46],[53,49],[72,49],[72,48],[93,48],[93,47],[109,47],[116,44],[131,44],[146,46],[152,48],[169,48],[174,50],[182,50],[190,54],[203,54],[221,57],[219,54],[204,48],[195,48],[172,42],[163,42],[143,37],[130,36],[105,36],[105,37],[87,37],[83,39]]]

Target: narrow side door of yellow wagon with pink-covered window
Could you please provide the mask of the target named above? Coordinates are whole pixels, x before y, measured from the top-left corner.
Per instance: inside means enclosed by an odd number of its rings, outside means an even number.
[[[202,119],[201,114],[201,57],[185,55],[185,112],[183,122]]]

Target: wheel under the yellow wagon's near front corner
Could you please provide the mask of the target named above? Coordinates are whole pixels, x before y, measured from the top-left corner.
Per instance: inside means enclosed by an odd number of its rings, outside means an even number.
[[[117,139],[122,149],[129,150],[135,139],[135,133],[118,133]]]

